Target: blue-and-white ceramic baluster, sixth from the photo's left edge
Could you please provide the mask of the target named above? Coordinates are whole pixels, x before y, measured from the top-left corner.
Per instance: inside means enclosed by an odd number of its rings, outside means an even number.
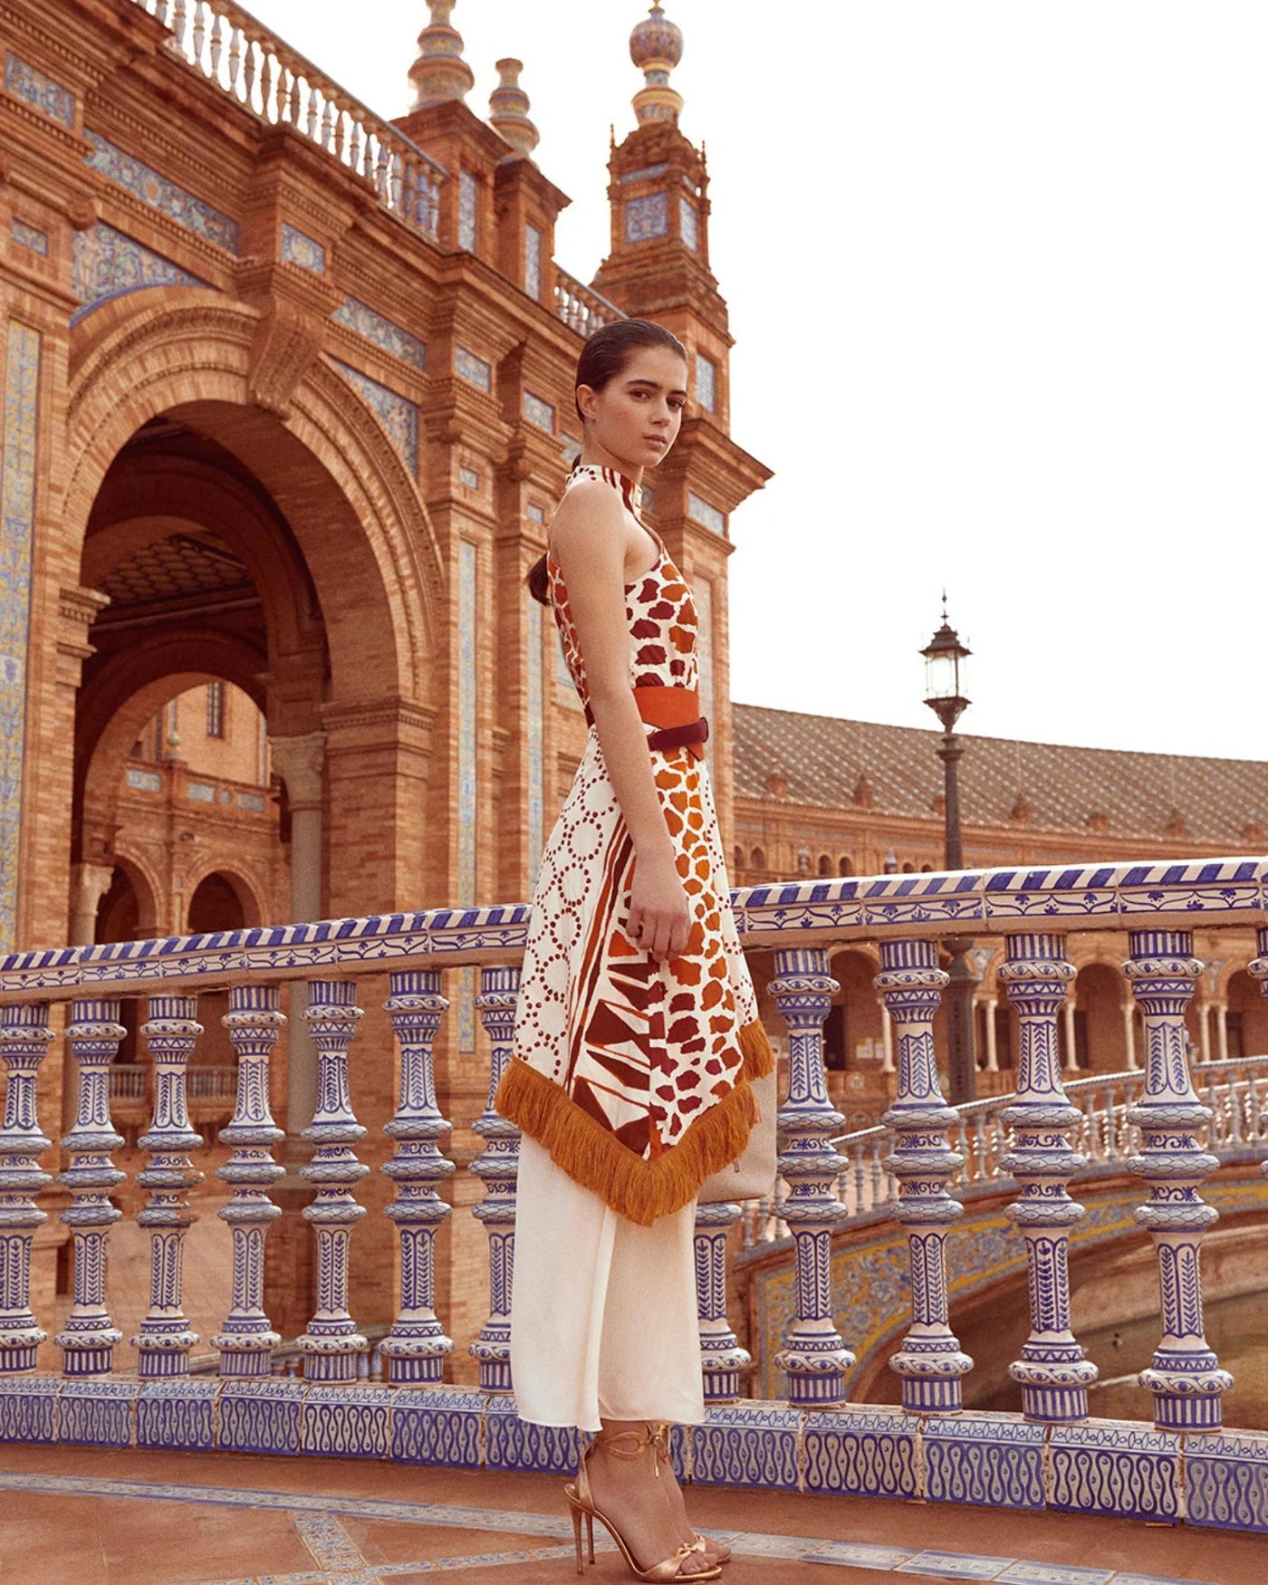
[[[384,1129],[396,1140],[396,1154],[384,1173],[399,1186],[387,1208],[401,1233],[401,1309],[384,1338],[393,1387],[444,1381],[445,1355],[453,1341],[436,1317],[436,1233],[450,1214],[437,1186],[453,1171],[437,1146],[449,1122],[436,1105],[431,1048],[449,1002],[441,995],[434,968],[407,968],[391,975],[387,1010],[401,1046],[401,1103]]]

